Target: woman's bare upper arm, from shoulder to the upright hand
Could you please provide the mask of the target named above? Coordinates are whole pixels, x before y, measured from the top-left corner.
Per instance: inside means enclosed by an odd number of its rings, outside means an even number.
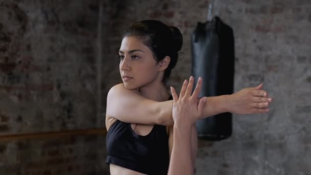
[[[113,86],[107,95],[106,127],[117,119],[126,123],[173,125],[172,100],[154,101],[126,90],[123,83]]]

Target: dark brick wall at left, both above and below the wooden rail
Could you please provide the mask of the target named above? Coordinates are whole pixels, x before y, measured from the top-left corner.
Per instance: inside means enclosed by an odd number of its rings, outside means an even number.
[[[0,135],[104,127],[98,6],[0,1]],[[0,142],[0,174],[108,173],[104,136]]]

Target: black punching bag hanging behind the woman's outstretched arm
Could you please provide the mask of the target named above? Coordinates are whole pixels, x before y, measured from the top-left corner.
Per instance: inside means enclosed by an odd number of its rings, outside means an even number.
[[[191,36],[192,75],[203,78],[200,97],[233,93],[234,37],[219,17],[197,23]],[[195,82],[196,83],[196,82]],[[208,104],[208,103],[207,103]],[[196,122],[199,139],[223,140],[231,136],[232,114],[222,113]]]

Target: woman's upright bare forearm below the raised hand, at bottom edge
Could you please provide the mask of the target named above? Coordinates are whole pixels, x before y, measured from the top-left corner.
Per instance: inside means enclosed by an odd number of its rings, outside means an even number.
[[[191,126],[180,127],[174,124],[173,149],[168,174],[193,174],[191,156]]]

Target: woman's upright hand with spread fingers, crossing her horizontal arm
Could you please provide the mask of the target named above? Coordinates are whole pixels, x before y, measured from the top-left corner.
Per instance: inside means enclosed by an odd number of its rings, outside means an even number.
[[[202,78],[199,77],[195,90],[191,95],[193,82],[193,76],[190,77],[189,83],[187,80],[184,81],[179,97],[175,89],[171,87],[173,97],[172,116],[174,123],[177,125],[192,126],[197,119],[203,116],[206,97],[198,99],[202,87]]]

